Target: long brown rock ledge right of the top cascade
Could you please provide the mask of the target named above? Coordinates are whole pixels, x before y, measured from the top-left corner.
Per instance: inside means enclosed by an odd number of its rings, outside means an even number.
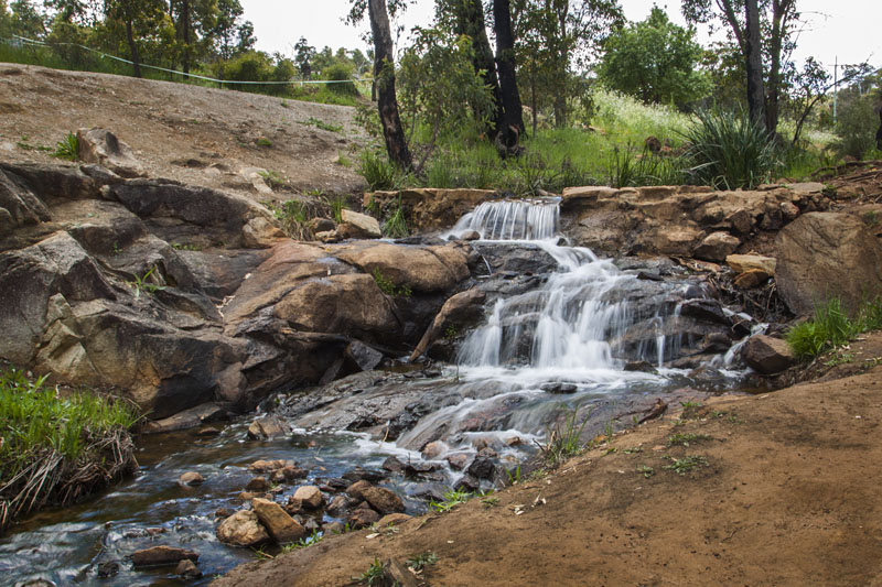
[[[598,252],[695,254],[721,261],[733,252],[733,239],[779,229],[795,217],[794,207],[796,214],[827,209],[829,200],[822,189],[820,184],[753,192],[690,186],[571,187],[563,191],[561,225],[576,244]]]

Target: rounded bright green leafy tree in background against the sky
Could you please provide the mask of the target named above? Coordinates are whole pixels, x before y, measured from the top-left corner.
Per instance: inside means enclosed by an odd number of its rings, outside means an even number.
[[[677,104],[701,98],[710,90],[707,76],[697,70],[702,56],[695,30],[670,22],[653,7],[649,17],[614,32],[603,44],[600,79],[645,104]]]

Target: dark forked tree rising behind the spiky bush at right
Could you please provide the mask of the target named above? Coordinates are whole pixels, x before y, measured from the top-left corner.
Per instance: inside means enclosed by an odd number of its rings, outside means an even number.
[[[689,22],[721,24],[729,30],[745,62],[750,61],[745,66],[752,96],[749,102],[757,107],[757,87],[762,85],[765,128],[770,134],[777,132],[785,77],[796,46],[795,25],[800,19],[796,0],[682,0],[682,13]],[[757,51],[764,56],[759,65]],[[762,79],[756,78],[757,66]]]

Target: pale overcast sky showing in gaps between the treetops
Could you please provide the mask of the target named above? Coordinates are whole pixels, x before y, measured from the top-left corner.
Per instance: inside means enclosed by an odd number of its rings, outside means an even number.
[[[643,20],[654,3],[667,9],[671,20],[684,24],[680,3],[676,0],[621,0],[625,17]],[[353,28],[345,24],[349,0],[241,0],[245,18],[255,24],[257,47],[267,52],[291,55],[291,47],[301,36],[319,48],[366,48],[362,35],[367,25]],[[882,1],[880,0],[798,0],[808,28],[799,37],[795,54],[798,61],[816,56],[825,65],[858,63],[870,59],[882,66]],[[434,2],[417,0],[401,19],[410,28],[429,24]],[[699,31],[698,41],[707,44],[707,30]]]

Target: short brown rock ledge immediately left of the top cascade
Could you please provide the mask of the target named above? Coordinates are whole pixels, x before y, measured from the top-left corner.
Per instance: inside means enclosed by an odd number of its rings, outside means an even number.
[[[373,200],[381,209],[397,206],[401,208],[407,225],[411,229],[430,231],[452,227],[463,215],[472,211],[482,202],[494,199],[496,193],[490,189],[435,189],[419,187],[400,192],[374,192],[365,194],[364,205]]]

